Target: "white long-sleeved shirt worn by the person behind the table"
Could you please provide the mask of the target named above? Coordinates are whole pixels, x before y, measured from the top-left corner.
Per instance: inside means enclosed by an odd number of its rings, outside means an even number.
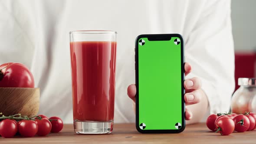
[[[21,62],[40,88],[39,114],[72,123],[69,31],[118,32],[115,122],[134,122],[127,87],[135,83],[140,34],[184,36],[189,77],[200,77],[210,113],[229,111],[234,89],[230,0],[0,0],[0,63]]]

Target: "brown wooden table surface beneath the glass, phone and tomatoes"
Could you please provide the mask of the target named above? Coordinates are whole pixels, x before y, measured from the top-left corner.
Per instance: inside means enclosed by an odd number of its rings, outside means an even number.
[[[0,144],[255,144],[256,131],[234,132],[229,136],[210,132],[205,123],[187,125],[180,134],[140,134],[135,124],[115,124],[112,134],[75,134],[72,124],[46,137],[0,137]]]

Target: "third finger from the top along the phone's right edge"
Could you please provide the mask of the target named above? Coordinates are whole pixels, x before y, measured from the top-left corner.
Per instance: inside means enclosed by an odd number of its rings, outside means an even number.
[[[203,95],[202,90],[197,90],[194,92],[186,93],[184,95],[184,100],[185,100],[186,105],[193,105],[193,104],[199,103],[201,101],[202,95]]]

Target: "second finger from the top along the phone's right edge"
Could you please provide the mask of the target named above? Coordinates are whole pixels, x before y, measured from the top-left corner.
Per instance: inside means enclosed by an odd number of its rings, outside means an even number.
[[[197,77],[194,77],[191,79],[186,79],[184,81],[184,87],[186,90],[190,90],[190,89],[197,90],[197,89],[200,89],[201,86],[202,86],[201,79],[199,79]]]

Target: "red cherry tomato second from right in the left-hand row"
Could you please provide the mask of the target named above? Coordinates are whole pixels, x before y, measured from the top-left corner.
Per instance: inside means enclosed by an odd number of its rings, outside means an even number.
[[[36,124],[38,125],[37,135],[46,136],[51,132],[52,124],[48,119],[42,118],[41,120],[38,119],[35,121],[36,121]]]

